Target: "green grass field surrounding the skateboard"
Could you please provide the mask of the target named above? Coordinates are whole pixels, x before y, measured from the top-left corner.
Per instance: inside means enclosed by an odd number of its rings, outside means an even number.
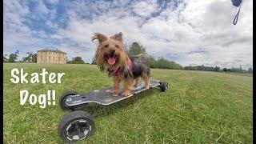
[[[5,63],[4,143],[62,143],[58,98],[67,90],[86,93],[112,85],[106,73],[91,65],[38,65]],[[62,83],[14,84],[10,70],[29,74],[64,72]],[[152,70],[152,78],[169,82],[166,93],[146,90],[110,106],[91,105],[94,135],[78,143],[252,143],[253,78],[234,74]],[[57,104],[45,109],[19,105],[19,91],[43,94],[56,90]]]

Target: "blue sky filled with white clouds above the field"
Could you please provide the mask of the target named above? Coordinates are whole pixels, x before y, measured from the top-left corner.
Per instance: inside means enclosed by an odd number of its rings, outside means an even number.
[[[121,32],[126,44],[140,42],[154,58],[182,66],[232,67],[253,64],[252,0],[242,3],[238,24],[230,0],[68,1],[4,0],[5,54],[42,48],[63,50],[69,59],[91,62],[95,32]]]

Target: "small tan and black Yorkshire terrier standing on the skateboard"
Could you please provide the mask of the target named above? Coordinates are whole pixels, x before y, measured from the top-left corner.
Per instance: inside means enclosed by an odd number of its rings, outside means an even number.
[[[108,38],[104,34],[94,34],[92,40],[98,39],[99,45],[94,61],[99,69],[113,76],[113,96],[119,95],[120,83],[124,82],[123,96],[129,96],[133,86],[138,86],[139,78],[144,81],[144,87],[150,86],[150,59],[145,54],[130,58],[126,54],[122,42],[122,33]]]

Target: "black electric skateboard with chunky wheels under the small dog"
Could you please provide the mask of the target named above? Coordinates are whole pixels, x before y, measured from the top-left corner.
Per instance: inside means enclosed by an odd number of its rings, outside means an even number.
[[[66,114],[58,124],[58,134],[62,138],[62,141],[72,143],[88,138],[94,133],[94,118],[91,114],[83,111],[91,102],[106,106],[130,98],[134,96],[134,94],[156,86],[160,87],[162,92],[166,92],[168,89],[167,82],[160,82],[158,80],[151,81],[149,88],[143,86],[144,85],[140,83],[137,87],[134,87],[130,92],[131,94],[127,97],[122,95],[113,96],[111,93],[112,87],[103,90],[93,90],[87,94],[78,94],[74,91],[62,94],[59,100],[62,110],[72,110],[72,112]],[[121,91],[122,90],[123,88],[121,88]]]

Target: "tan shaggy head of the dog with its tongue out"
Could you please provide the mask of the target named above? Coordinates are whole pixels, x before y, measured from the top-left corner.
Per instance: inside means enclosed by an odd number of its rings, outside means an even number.
[[[122,42],[122,33],[108,38],[104,34],[94,34],[92,40],[98,39],[99,45],[94,60],[101,70],[114,70],[126,63],[126,50]]]

